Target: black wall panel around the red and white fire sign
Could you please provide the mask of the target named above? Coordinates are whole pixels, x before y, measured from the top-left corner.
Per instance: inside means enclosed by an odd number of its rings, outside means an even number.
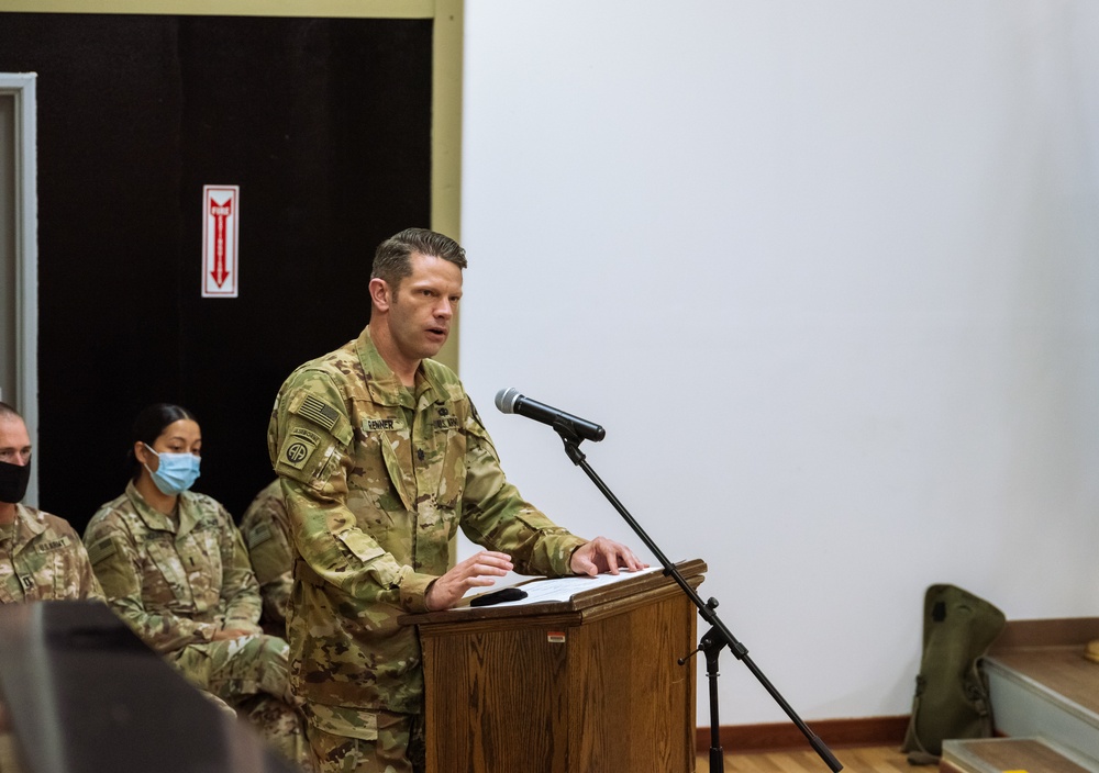
[[[137,411],[192,410],[196,484],[237,518],[267,418],[355,337],[375,246],[429,225],[431,21],[0,14],[38,74],[44,509],[121,493]],[[202,187],[237,184],[240,296],[201,293]]]

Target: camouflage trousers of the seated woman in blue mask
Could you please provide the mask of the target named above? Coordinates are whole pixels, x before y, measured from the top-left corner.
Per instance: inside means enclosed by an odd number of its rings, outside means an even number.
[[[189,645],[168,661],[191,684],[222,698],[284,758],[312,771],[304,719],[288,692],[287,643],[273,636]]]

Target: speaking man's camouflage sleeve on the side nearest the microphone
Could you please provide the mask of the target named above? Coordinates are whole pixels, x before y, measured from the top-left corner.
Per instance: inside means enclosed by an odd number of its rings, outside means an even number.
[[[588,540],[554,524],[508,482],[488,430],[471,404],[465,433],[462,530],[478,545],[509,553],[521,574],[571,574],[573,553]]]

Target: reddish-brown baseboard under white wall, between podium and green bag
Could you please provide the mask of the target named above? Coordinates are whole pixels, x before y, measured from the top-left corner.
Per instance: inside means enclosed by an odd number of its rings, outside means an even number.
[[[887,747],[904,742],[909,717],[863,717],[858,719],[819,719],[806,722],[818,738],[831,748]],[[811,749],[792,722],[773,725],[724,725],[719,733],[726,754],[744,752]],[[703,754],[710,748],[710,728],[695,730],[695,748]]]

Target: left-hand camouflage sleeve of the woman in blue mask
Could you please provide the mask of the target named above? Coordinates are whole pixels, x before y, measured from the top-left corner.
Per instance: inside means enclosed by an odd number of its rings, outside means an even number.
[[[142,600],[141,554],[133,535],[121,524],[92,518],[84,535],[96,579],[107,603],[142,640],[162,654],[209,641],[217,624],[197,623],[167,609],[149,612]]]

